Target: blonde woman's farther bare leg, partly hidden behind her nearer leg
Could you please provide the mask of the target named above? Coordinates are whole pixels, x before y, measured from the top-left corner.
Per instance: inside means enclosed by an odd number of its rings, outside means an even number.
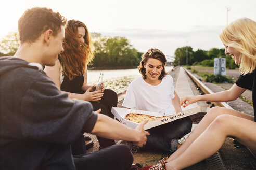
[[[223,107],[213,107],[209,110],[209,112],[203,117],[203,119],[200,121],[200,123],[197,125],[197,127],[190,133],[190,135],[185,140],[184,144],[176,151],[174,152],[168,159],[167,162],[170,162],[177,157],[179,157],[184,151],[187,150],[187,148],[197,139],[198,136],[203,133],[204,130],[207,129],[207,127],[214,121],[214,119],[222,114],[228,114],[228,115],[234,115],[240,118],[245,118],[254,121],[254,117],[243,114],[236,110],[231,110]]]

